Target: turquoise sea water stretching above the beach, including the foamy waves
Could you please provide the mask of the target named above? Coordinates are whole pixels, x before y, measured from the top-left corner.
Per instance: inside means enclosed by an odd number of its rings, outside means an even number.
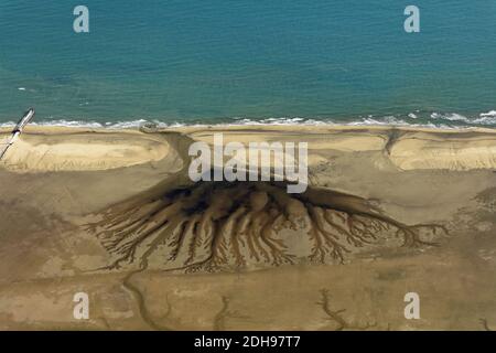
[[[495,127],[496,0],[1,0],[0,124],[30,106],[50,124]]]

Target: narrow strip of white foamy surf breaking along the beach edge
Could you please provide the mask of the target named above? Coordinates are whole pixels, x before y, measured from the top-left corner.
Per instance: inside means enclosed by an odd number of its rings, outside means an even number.
[[[109,120],[110,119],[110,120]],[[114,120],[116,119],[116,120]],[[11,117],[0,117],[0,128],[15,124]],[[100,117],[84,118],[39,117],[37,126],[89,127],[89,128],[139,128],[143,124],[153,124],[159,128],[207,127],[207,126],[397,126],[419,128],[496,128],[496,110],[466,113],[439,113],[416,110],[408,114],[354,114],[338,116],[217,116],[217,117]]]

